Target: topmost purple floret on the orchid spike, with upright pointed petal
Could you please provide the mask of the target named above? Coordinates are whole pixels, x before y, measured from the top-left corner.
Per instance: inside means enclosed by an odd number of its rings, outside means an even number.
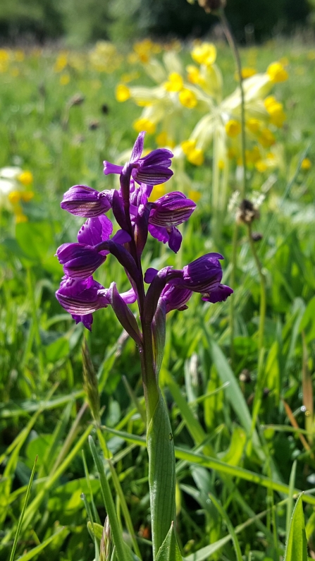
[[[159,185],[164,183],[173,175],[173,171],[168,169],[171,166],[171,150],[166,148],[158,148],[153,150],[147,156],[141,157],[144,134],[138,135],[135,145],[132,149],[130,160],[125,166],[117,166],[110,162],[104,162],[104,174],[120,174],[132,177],[137,183],[146,183],[146,185]]]

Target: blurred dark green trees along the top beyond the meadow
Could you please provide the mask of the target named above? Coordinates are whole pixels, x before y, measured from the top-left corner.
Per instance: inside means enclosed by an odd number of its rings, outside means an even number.
[[[312,0],[228,0],[226,13],[240,42],[311,28]],[[1,0],[3,42],[65,40],[80,47],[99,39],[199,37],[216,24],[183,0]]]

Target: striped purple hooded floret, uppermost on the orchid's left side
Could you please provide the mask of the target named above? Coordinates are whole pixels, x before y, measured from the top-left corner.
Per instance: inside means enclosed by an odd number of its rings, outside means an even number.
[[[61,208],[75,216],[86,218],[100,216],[111,208],[106,193],[106,191],[99,193],[86,185],[75,185],[63,195]]]

